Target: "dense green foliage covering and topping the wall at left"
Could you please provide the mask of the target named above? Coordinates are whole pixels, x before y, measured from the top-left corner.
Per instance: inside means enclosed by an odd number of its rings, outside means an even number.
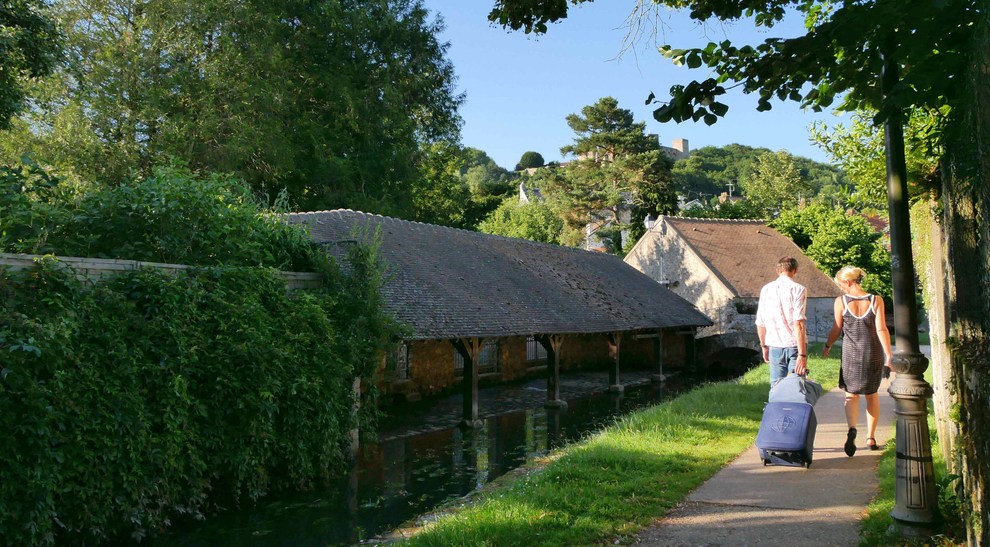
[[[228,265],[97,284],[49,257],[35,272],[0,270],[7,545],[141,539],[177,515],[343,471],[348,432],[374,409],[371,389],[353,415],[352,380],[374,374],[392,329],[373,248],[339,268],[223,178],[166,168],[75,205],[40,199],[57,185],[24,180],[29,170],[8,170],[21,191],[0,196],[16,212],[8,248]],[[286,265],[316,268],[326,285],[289,292],[273,270]]]

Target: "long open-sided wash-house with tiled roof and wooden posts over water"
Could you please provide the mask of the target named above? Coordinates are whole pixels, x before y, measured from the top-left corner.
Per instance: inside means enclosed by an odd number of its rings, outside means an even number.
[[[478,382],[547,379],[547,405],[565,405],[561,370],[690,365],[696,327],[712,324],[677,294],[614,255],[339,209],[288,221],[336,253],[378,238],[385,309],[405,327],[383,356],[392,397],[460,389],[477,425]],[[367,382],[367,379],[365,379]],[[603,388],[605,385],[603,385]]]

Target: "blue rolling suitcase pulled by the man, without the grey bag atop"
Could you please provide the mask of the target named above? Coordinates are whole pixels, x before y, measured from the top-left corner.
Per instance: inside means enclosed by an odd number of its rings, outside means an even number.
[[[768,402],[756,433],[763,465],[811,467],[818,419],[807,402]]]

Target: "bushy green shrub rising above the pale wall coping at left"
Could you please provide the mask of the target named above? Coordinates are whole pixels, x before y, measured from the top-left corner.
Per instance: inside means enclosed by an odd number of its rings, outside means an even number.
[[[0,166],[0,249],[196,266],[319,268],[322,252],[247,185],[164,164],[82,194],[37,164]]]

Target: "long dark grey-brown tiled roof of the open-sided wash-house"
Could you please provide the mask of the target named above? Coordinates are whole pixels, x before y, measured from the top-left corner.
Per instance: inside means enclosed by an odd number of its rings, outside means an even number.
[[[412,338],[576,334],[710,325],[617,256],[349,209],[292,213],[333,244],[380,236],[386,308]],[[337,247],[337,246],[335,246]]]

